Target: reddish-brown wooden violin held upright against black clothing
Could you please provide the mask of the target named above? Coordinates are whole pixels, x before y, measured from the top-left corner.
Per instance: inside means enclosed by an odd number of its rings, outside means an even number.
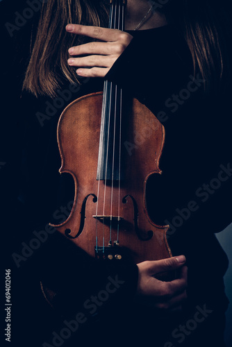
[[[110,1],[109,28],[124,31],[125,8],[125,0]],[[60,174],[72,175],[75,196],[67,220],[53,225],[56,230],[98,260],[138,263],[171,257],[169,226],[156,225],[147,212],[147,180],[162,174],[165,142],[155,115],[106,80],[103,92],[65,108],[57,136]],[[138,138],[143,141],[135,146]]]

